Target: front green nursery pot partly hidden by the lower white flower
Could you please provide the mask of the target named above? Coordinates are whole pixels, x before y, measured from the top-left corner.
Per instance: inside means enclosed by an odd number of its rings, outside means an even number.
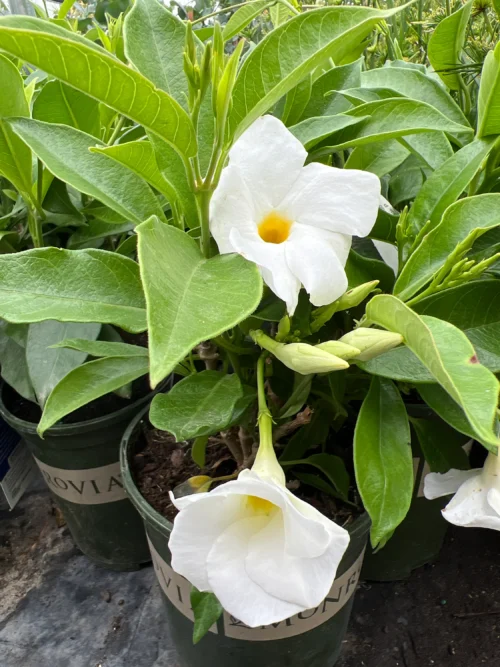
[[[367,514],[349,528],[351,541],[340,563],[337,578],[326,599],[315,609],[270,626],[249,628],[224,612],[207,635],[193,645],[193,614],[190,583],[171,566],[168,540],[172,524],[156,512],[137,489],[129,461],[141,420],[137,415],[125,432],[121,447],[121,470],[125,489],[146,526],[153,565],[160,583],[179,667],[333,667],[351,614],[356,584],[370,529]]]

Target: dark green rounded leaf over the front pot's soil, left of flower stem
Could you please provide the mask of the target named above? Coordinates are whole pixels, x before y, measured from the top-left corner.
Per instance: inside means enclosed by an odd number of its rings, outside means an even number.
[[[202,371],[184,378],[167,394],[157,394],[149,418],[177,442],[225,429],[243,391],[238,376]]]

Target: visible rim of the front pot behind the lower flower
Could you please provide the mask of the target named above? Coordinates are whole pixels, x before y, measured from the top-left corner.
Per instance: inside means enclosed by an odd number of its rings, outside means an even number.
[[[127,426],[125,433],[123,434],[123,438],[120,444],[121,476],[128,497],[144,521],[153,524],[154,527],[160,532],[170,534],[172,532],[173,523],[166,519],[162,514],[157,512],[144,498],[142,493],[137,488],[129,465],[129,447],[131,444],[131,436],[138,424],[140,424],[140,422],[144,419],[148,410],[149,405],[145,406],[143,410],[135,415],[130,424]],[[367,531],[370,523],[371,520],[368,512],[364,511],[360,516],[356,517],[352,524],[346,527],[346,530],[349,532],[349,535],[353,537],[358,533]]]

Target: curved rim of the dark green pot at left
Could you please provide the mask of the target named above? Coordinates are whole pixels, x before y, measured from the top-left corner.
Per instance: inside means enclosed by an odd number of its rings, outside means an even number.
[[[47,429],[44,433],[44,436],[49,436],[49,437],[67,437],[71,435],[75,435],[76,433],[81,433],[82,431],[84,432],[89,432],[89,431],[95,431],[100,428],[106,427],[110,422],[119,420],[120,418],[125,417],[129,412],[133,413],[137,408],[139,408],[141,405],[143,405],[145,402],[148,404],[151,402],[152,398],[155,396],[155,394],[158,393],[158,391],[161,391],[162,389],[165,389],[169,384],[172,383],[173,376],[170,376],[165,380],[165,384],[161,385],[159,389],[155,389],[153,391],[148,392],[145,396],[142,398],[138,398],[135,400],[133,403],[130,405],[125,405],[124,407],[120,408],[119,410],[115,410],[114,412],[110,412],[107,415],[103,415],[101,417],[94,417],[93,419],[87,419],[85,421],[80,421],[80,422],[73,422],[71,424],[63,424],[61,422],[58,422],[57,424],[54,424],[54,426],[51,426],[49,429]],[[36,435],[38,436],[37,432],[37,426],[38,423],[34,422],[29,422],[25,421],[24,419],[21,419],[20,417],[16,417],[16,415],[12,414],[10,410],[7,409],[4,400],[3,400],[3,393],[5,390],[5,387],[10,385],[5,382],[5,380],[0,380],[0,416],[7,422],[9,423],[13,428],[20,430],[24,433],[27,433],[28,435]],[[15,390],[14,390],[15,391]],[[146,408],[148,407],[146,406]],[[144,412],[144,411],[143,411]],[[143,413],[141,412],[141,414]],[[40,436],[38,436],[40,437]]]

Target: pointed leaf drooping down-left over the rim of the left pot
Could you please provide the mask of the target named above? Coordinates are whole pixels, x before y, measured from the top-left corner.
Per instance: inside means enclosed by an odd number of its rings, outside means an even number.
[[[147,357],[110,357],[78,366],[52,390],[38,424],[38,435],[42,437],[48,428],[66,415],[147,372]]]

